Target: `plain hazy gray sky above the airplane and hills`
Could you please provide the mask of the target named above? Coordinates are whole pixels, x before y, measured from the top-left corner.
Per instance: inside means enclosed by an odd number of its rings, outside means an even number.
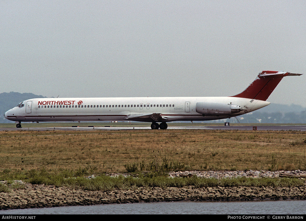
[[[0,0],[0,92],[232,96],[261,71],[267,101],[306,107],[306,1]]]

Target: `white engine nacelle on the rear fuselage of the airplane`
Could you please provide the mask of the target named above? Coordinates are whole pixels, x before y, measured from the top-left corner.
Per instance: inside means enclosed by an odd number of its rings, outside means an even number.
[[[230,115],[239,113],[240,110],[240,106],[233,104],[207,102],[196,103],[196,112],[209,116]]]

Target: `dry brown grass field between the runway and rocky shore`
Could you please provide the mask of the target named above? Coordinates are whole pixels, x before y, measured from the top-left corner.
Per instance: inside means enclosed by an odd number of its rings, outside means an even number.
[[[0,170],[306,170],[305,149],[297,131],[2,131]]]

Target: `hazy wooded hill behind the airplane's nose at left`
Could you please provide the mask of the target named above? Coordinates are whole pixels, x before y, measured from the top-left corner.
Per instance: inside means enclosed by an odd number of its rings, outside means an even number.
[[[0,123],[12,123],[4,118],[4,113],[18,105],[21,101],[32,99],[32,98],[46,98],[41,95],[35,95],[32,93],[18,93],[18,92],[9,92],[9,93],[0,93]]]

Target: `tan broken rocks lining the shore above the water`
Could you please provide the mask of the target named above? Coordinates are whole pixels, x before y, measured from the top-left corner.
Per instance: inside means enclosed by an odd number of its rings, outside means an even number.
[[[174,176],[203,177],[230,177],[251,176],[266,177],[266,172],[236,172],[236,171],[185,171],[171,172]],[[273,173],[273,172],[271,172]],[[190,175],[193,174],[193,175]],[[280,177],[284,172],[274,172],[268,177]],[[285,174],[306,175],[304,171]],[[114,176],[114,175],[113,175]],[[113,191],[86,191],[55,187],[47,185],[34,185],[25,183],[24,189],[14,189],[9,193],[0,193],[0,210],[42,208],[75,205],[97,205],[111,203],[137,203],[162,201],[253,201],[253,200],[305,200],[306,183],[302,187],[138,187],[129,190]]]

